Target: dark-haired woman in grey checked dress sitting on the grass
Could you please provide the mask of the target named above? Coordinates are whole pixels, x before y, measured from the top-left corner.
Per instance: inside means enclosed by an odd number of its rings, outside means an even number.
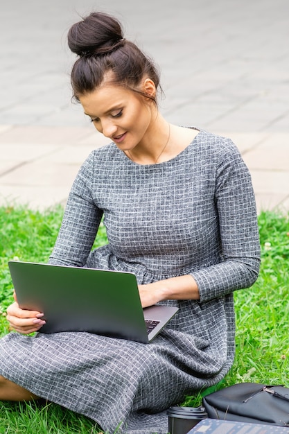
[[[73,94],[112,144],[73,183],[50,263],[134,272],[144,306],[178,306],[150,345],[41,333],[17,302],[0,341],[0,399],[44,397],[113,433],[166,433],[166,409],[218,383],[234,360],[233,292],[259,272],[252,182],[229,139],[170,125],[159,76],[109,15],[73,25]],[[104,216],[108,244],[91,252]],[[36,337],[24,336],[39,331]]]

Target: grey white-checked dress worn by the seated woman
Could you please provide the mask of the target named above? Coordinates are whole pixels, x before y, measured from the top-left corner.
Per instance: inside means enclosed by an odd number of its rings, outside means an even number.
[[[109,243],[91,252],[104,215]],[[150,344],[90,333],[9,333],[0,374],[94,419],[103,431],[166,433],[166,409],[217,383],[234,361],[233,291],[259,272],[252,182],[229,139],[200,131],[177,157],[92,152],[74,182],[50,263],[134,272],[140,284],[193,275],[200,300]]]

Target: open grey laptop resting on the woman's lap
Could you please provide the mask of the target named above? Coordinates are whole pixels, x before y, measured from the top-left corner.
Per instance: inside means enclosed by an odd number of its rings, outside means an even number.
[[[148,343],[178,311],[159,304],[143,309],[131,272],[23,261],[8,265],[21,309],[44,313],[42,333],[87,331]]]

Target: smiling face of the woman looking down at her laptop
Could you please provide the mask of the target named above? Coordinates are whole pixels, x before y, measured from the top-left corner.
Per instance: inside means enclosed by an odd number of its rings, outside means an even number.
[[[125,87],[104,84],[79,100],[96,130],[121,150],[138,146],[150,128],[154,104]]]

